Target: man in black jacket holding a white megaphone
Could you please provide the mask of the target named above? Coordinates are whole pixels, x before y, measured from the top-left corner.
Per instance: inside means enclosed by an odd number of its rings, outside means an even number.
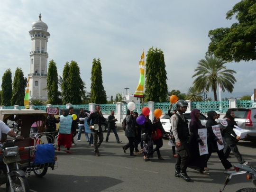
[[[90,123],[90,121],[91,121],[91,123]],[[99,155],[99,147],[101,146],[101,143],[104,139],[102,128],[101,128],[102,121],[104,122],[105,118],[103,117],[103,115],[101,113],[101,107],[100,107],[100,105],[96,105],[95,112],[91,113],[90,117],[87,119],[87,124],[89,125],[89,128],[92,130],[95,156],[100,156]],[[94,124],[99,125],[98,130],[95,130],[94,128],[91,127]],[[99,142],[98,142],[98,137],[99,137]]]

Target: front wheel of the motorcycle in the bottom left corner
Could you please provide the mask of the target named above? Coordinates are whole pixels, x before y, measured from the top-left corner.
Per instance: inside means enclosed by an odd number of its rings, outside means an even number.
[[[15,192],[29,192],[29,185],[25,176],[12,176],[13,188]],[[7,183],[7,191],[11,192],[10,183]]]

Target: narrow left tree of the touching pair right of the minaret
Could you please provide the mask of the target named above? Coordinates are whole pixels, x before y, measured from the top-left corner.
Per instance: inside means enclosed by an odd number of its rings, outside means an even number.
[[[68,98],[67,98],[67,90],[68,90],[68,83],[67,83],[67,78],[68,78],[68,73],[69,73],[69,62],[66,62],[63,68],[62,72],[62,79],[59,79],[59,82],[61,80],[61,97],[62,97],[62,103],[67,104]]]

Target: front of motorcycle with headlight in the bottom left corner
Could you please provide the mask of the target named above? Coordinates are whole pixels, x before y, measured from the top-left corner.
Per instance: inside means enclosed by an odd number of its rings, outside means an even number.
[[[25,178],[25,172],[19,169],[18,161],[20,161],[19,148],[15,146],[15,142],[6,141],[0,146],[0,185],[6,183],[7,192],[29,192],[29,185]]]

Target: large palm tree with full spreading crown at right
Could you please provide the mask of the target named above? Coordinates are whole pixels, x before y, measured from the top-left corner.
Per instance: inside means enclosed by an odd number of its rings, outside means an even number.
[[[205,56],[205,59],[201,59],[198,62],[197,68],[194,70],[196,73],[192,76],[198,76],[193,85],[198,91],[213,91],[214,101],[217,101],[217,87],[220,85],[223,92],[233,91],[233,84],[237,82],[233,73],[237,73],[234,70],[227,69],[224,64],[227,62],[214,57]]]

